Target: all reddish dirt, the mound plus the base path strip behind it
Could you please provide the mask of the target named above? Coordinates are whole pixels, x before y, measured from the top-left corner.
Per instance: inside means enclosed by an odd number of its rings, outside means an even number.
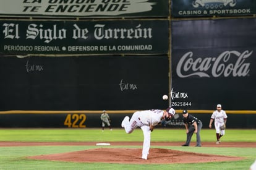
[[[108,142],[116,146],[138,145],[142,142]],[[181,146],[181,142],[151,142],[151,146]],[[66,145],[96,145],[95,142],[0,142],[0,147],[18,146],[66,146]],[[190,147],[194,147],[191,143]],[[255,143],[223,142],[220,144],[203,143],[202,147],[256,147]],[[127,163],[127,164],[170,164],[170,163],[203,163],[213,161],[236,161],[244,158],[234,156],[208,155],[186,151],[168,150],[164,148],[150,148],[147,160],[141,159],[142,147],[140,148],[98,148],[69,153],[57,153],[51,155],[30,156],[30,159],[45,159],[52,161],[69,161],[83,163]]]

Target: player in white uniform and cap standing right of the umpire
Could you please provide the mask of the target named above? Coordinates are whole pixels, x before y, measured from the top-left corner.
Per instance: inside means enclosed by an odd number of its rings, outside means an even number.
[[[211,128],[211,124],[213,123],[214,120],[214,125],[216,129],[216,138],[217,142],[216,144],[220,143],[220,138],[225,134],[225,130],[221,130],[220,127],[224,125],[226,127],[226,122],[227,122],[227,114],[223,109],[221,109],[221,104],[217,104],[217,109],[216,111],[211,114],[211,119],[210,119],[210,124],[209,128]]]

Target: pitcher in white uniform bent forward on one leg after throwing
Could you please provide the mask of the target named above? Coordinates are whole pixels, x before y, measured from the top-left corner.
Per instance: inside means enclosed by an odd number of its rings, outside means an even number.
[[[158,125],[161,120],[166,119],[168,121],[175,114],[173,108],[167,108],[166,110],[151,109],[145,111],[136,111],[132,117],[124,117],[121,126],[124,127],[127,134],[131,134],[134,129],[140,127],[143,131],[144,141],[142,148],[142,159],[148,158],[150,149],[150,135],[155,125]],[[130,119],[130,121],[129,121]]]

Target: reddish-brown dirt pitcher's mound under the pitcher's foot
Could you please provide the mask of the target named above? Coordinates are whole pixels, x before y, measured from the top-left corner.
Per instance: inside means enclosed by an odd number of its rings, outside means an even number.
[[[237,161],[243,159],[234,156],[207,155],[160,148],[151,148],[147,160],[141,159],[141,156],[142,149],[138,148],[96,148],[69,153],[30,156],[28,158],[80,163],[127,164],[203,163],[215,161]]]

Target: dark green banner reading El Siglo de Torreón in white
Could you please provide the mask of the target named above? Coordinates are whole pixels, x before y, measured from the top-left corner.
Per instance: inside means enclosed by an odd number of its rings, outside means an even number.
[[[168,24],[168,20],[1,20],[0,54],[167,54]]]

